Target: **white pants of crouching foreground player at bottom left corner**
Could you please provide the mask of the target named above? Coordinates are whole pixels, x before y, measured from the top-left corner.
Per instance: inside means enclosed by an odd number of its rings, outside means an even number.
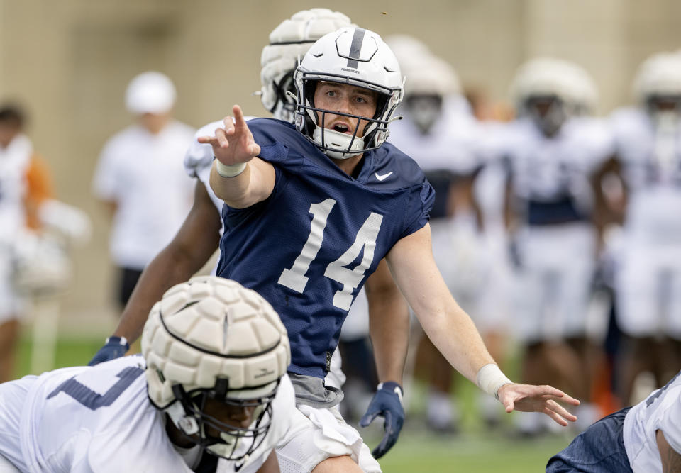
[[[26,376],[17,381],[0,384],[0,473],[28,472],[21,455],[21,411],[28,390],[38,377]],[[7,464],[15,469],[11,469]]]

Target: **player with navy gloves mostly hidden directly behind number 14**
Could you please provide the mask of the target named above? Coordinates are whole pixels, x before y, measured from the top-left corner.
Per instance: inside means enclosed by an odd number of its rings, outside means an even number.
[[[350,19],[343,13],[311,9],[295,13],[270,33],[270,44],[262,50],[260,97],[262,104],[275,118],[286,121],[293,118],[294,105],[287,91],[294,91],[292,74],[299,57],[323,34],[348,25]],[[196,136],[210,135],[221,125],[221,121],[209,123]],[[123,355],[128,350],[128,340],[139,337],[153,301],[172,284],[199,271],[218,249],[223,202],[216,198],[208,184],[212,162],[211,147],[194,140],[184,160],[187,173],[197,179],[194,205],[175,238],[143,272],[114,335],[107,339],[106,345],[97,352],[91,364]],[[367,282],[367,292],[370,311],[374,314],[371,323],[375,326],[372,343],[375,347],[376,370],[384,384],[375,392],[365,423],[368,425],[377,415],[384,416],[386,409],[392,411],[389,425],[386,426],[389,434],[374,451],[378,457],[384,455],[397,441],[404,420],[404,410],[399,396],[394,392],[394,385],[402,384],[409,316],[404,299],[392,282],[384,262]],[[366,362],[373,363],[370,360]],[[326,383],[331,389],[340,389],[345,375],[341,371],[341,358],[336,354],[332,358],[332,367]],[[401,386],[399,389],[402,389]]]

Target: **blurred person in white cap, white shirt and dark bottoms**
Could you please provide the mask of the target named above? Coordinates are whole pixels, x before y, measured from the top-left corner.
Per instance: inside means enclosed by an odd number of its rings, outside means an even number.
[[[94,194],[113,217],[109,245],[118,270],[116,301],[121,308],[192,204],[194,182],[181,163],[194,129],[172,118],[175,96],[175,86],[160,72],[133,78],[126,89],[126,108],[136,123],[106,142],[94,174]]]

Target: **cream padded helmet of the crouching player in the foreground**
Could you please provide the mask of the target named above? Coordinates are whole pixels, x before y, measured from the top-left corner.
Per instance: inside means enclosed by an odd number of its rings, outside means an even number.
[[[151,310],[142,353],[150,401],[190,440],[228,460],[262,443],[291,355],[282,321],[258,293],[220,277],[173,286]],[[243,428],[209,416],[209,400],[250,408],[252,422]]]

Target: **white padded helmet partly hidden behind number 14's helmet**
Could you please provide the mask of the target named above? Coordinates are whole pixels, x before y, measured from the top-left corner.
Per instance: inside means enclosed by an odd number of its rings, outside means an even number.
[[[312,43],[323,35],[352,26],[350,18],[329,9],[309,9],[295,13],[270,33],[270,44],[262,48],[260,57],[260,100],[279,120],[293,122],[296,102],[293,72]]]

